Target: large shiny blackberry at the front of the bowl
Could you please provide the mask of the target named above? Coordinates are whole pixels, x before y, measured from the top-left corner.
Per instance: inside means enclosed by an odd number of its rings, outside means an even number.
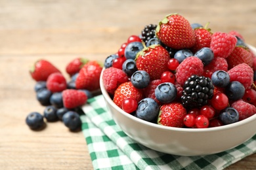
[[[181,102],[187,109],[202,107],[213,97],[213,82],[205,76],[192,75],[183,86]]]

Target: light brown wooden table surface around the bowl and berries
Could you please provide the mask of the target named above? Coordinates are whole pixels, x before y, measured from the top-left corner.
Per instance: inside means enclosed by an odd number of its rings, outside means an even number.
[[[0,0],[0,169],[93,169],[83,133],[62,122],[32,131],[25,118],[43,112],[29,69],[37,59],[62,73],[78,56],[104,59],[129,35],[178,12],[213,32],[240,32],[256,46],[256,1]],[[239,137],[239,136],[238,136]],[[256,154],[228,169],[256,169]]]

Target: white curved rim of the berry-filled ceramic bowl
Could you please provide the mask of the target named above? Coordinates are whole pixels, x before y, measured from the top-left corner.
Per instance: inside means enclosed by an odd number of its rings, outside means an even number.
[[[254,46],[248,45],[251,50],[253,50],[254,53],[256,53],[256,48]],[[228,124],[224,126],[218,126],[218,127],[207,127],[207,128],[184,128],[184,127],[169,127],[169,126],[161,126],[159,124],[154,124],[152,122],[147,122],[146,120],[141,120],[125,111],[123,111],[121,108],[119,108],[114,101],[110,98],[110,95],[108,92],[106,92],[106,89],[104,88],[104,83],[103,83],[103,72],[105,68],[102,69],[102,72],[100,74],[100,89],[102,92],[102,95],[104,96],[104,99],[106,102],[108,102],[114,109],[116,109],[118,112],[123,114],[123,116],[126,116],[127,118],[139,122],[140,124],[143,124],[144,126],[150,126],[158,129],[163,129],[163,130],[171,130],[171,131],[181,131],[181,132],[190,132],[190,133],[198,133],[198,132],[210,132],[210,131],[222,131],[226,129],[231,129],[234,127],[240,127],[243,126],[249,122],[255,121],[256,120],[256,114],[253,114],[249,118],[245,118],[244,120],[240,120],[239,122],[235,122],[233,124]],[[110,111],[110,110],[109,110]],[[110,113],[112,114],[112,113]],[[113,115],[112,115],[113,116]],[[255,131],[256,133],[256,131]]]

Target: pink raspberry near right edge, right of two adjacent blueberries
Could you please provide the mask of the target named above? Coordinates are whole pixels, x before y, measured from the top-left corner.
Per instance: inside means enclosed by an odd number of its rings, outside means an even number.
[[[230,82],[241,82],[245,89],[253,84],[253,69],[246,63],[236,65],[228,71],[228,75],[230,76]]]

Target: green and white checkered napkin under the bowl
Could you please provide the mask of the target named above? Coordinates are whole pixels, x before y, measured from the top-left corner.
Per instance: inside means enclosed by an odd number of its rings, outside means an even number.
[[[121,131],[102,95],[88,100],[81,115],[94,169],[224,169],[256,152],[256,135],[236,148],[208,156],[175,156],[136,143]]]

